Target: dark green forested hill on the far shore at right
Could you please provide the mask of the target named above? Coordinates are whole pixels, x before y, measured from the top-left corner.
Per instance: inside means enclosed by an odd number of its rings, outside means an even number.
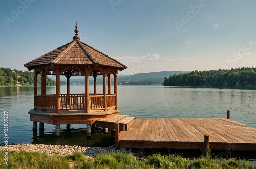
[[[255,86],[256,68],[236,68],[230,70],[192,71],[165,77],[165,86],[211,86],[234,87]]]

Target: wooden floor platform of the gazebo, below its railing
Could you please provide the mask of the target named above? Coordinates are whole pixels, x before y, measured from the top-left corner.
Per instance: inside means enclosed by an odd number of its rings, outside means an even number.
[[[84,110],[62,110],[59,114],[55,110],[29,111],[30,120],[47,124],[93,124],[96,120],[119,115],[120,110],[93,111],[85,113]]]

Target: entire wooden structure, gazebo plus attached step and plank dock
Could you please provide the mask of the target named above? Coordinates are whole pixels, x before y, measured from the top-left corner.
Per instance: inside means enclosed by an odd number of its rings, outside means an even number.
[[[33,131],[37,131],[38,122],[41,131],[47,123],[55,125],[55,135],[60,136],[60,124],[87,124],[90,138],[91,127],[96,124],[115,129],[120,148],[201,149],[204,145],[211,149],[256,150],[256,129],[230,120],[229,111],[227,119],[135,119],[119,115],[117,74],[127,66],[81,42],[77,22],[75,28],[73,41],[24,64],[34,71],[34,106],[29,111]],[[47,93],[47,75],[56,77],[55,93]],[[67,80],[67,92],[62,94],[60,76]],[[84,78],[84,92],[71,93],[72,76]],[[93,93],[89,93],[89,76],[93,77]],[[97,92],[99,76],[102,93]]]

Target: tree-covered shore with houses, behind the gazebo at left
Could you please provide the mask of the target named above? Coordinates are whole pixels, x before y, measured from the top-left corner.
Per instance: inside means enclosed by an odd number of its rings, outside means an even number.
[[[41,84],[41,76],[38,75],[38,83]],[[33,85],[34,73],[30,71],[11,70],[10,68],[0,68],[0,86],[13,85]],[[53,86],[56,82],[46,77],[47,86]]]

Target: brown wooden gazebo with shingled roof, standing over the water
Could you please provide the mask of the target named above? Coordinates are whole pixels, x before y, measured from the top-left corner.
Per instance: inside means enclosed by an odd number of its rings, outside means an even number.
[[[26,64],[34,70],[34,108],[29,111],[33,128],[44,123],[93,124],[95,119],[119,114],[117,101],[117,73],[127,67],[108,55],[80,41],[75,29],[73,41],[58,47]],[[37,76],[41,75],[41,93],[37,93]],[[46,76],[56,76],[56,93],[47,94]],[[111,75],[114,93],[111,93]],[[67,93],[60,93],[60,76],[67,78]],[[84,76],[84,93],[70,93],[70,77]],[[89,93],[89,76],[94,79],[94,92]],[[103,93],[97,93],[97,77],[103,78]],[[56,135],[58,135],[56,131]]]

